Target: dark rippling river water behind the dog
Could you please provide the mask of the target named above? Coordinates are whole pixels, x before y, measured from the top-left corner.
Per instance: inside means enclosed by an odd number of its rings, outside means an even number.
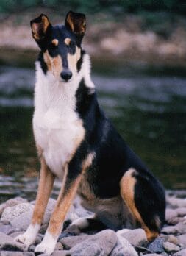
[[[101,106],[165,188],[185,189],[186,77],[126,77],[115,69],[114,77],[93,75]],[[34,82],[32,69],[0,67],[0,201],[35,198]]]

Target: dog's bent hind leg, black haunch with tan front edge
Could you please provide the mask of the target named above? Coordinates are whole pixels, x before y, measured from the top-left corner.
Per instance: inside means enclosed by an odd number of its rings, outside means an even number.
[[[149,241],[157,237],[165,221],[165,193],[149,172],[130,168],[121,179],[121,197],[136,224],[145,230]]]

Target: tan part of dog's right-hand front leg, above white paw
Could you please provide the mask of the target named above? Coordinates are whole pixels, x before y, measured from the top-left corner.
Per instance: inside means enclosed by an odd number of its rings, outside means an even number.
[[[67,176],[67,171],[65,176]],[[49,227],[47,229],[47,232],[49,232],[54,237],[59,235],[61,232],[62,223],[65,220],[65,215],[68,212],[69,207],[71,206],[74,196],[76,195],[76,191],[79,186],[80,180],[81,175],[79,175],[79,177],[76,178],[74,183],[71,185],[71,188],[69,188],[68,192],[65,193],[65,195],[64,188],[62,188],[60,191],[60,195],[57,199],[57,205],[54,208],[54,212],[51,215],[51,220],[49,223]]]

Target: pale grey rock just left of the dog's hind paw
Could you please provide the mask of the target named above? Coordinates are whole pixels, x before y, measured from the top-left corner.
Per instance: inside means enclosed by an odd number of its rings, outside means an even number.
[[[131,243],[133,246],[143,246],[144,244],[148,243],[146,238],[146,232],[143,229],[136,229],[136,230],[129,230],[122,233],[122,230],[120,230],[119,234],[126,238],[129,243]]]

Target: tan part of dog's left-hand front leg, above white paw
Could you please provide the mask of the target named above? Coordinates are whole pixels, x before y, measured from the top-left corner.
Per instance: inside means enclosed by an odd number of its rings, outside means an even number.
[[[32,224],[41,224],[43,221],[43,215],[46,210],[46,205],[49,201],[49,196],[51,194],[51,189],[54,184],[54,175],[46,166],[46,162],[42,157],[40,160],[40,181],[37,190],[37,197],[35,202],[35,209],[32,216]]]

